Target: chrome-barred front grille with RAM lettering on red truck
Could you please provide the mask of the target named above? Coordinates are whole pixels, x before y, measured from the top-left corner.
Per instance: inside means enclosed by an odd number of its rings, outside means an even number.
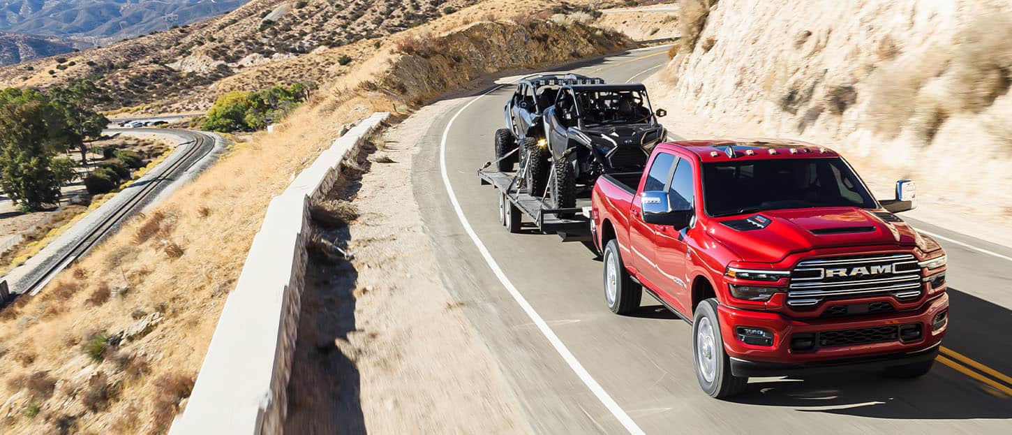
[[[805,260],[790,271],[787,304],[806,308],[827,298],[883,294],[911,300],[921,295],[922,286],[921,269],[911,254]]]

